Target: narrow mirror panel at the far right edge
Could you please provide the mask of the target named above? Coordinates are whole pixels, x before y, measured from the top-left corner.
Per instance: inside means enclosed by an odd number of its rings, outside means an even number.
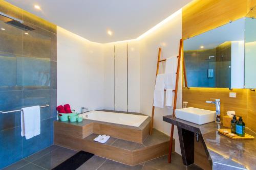
[[[256,8],[245,18],[245,88],[256,87]]]

